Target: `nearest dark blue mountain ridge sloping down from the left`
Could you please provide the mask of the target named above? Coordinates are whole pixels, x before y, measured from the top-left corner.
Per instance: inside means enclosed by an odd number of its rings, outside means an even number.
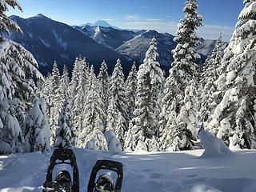
[[[131,63],[126,56],[98,44],[86,34],[62,22],[56,22],[42,14],[26,19],[18,16],[10,18],[18,23],[24,34],[11,32],[6,38],[21,43],[29,50],[37,59],[42,74],[47,74],[52,69],[54,60],[60,69],[66,64],[72,70],[74,59],[79,56],[86,57],[86,62],[94,65],[96,73],[103,59],[110,71],[114,69],[117,58],[121,59],[125,69],[130,70]]]

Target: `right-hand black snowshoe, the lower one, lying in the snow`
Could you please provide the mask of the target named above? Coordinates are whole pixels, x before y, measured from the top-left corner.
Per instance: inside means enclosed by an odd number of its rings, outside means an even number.
[[[112,170],[118,174],[117,181],[114,185],[109,174],[102,174],[95,183],[95,178],[99,170]],[[122,163],[110,160],[98,160],[90,174],[87,192],[120,192],[122,187]]]

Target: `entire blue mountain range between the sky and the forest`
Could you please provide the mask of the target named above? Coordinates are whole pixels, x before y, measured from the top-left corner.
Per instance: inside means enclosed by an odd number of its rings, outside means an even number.
[[[124,73],[127,75],[133,61],[141,64],[145,58],[146,50],[150,46],[153,36],[157,39],[158,62],[165,70],[169,70],[173,57],[171,50],[177,45],[174,35],[158,33],[156,30],[118,30],[110,26],[68,26],[62,22],[56,22],[42,14],[32,18],[20,18],[10,16],[14,22],[21,26],[24,35],[11,32],[6,35],[14,42],[21,43],[37,59],[39,70],[47,74],[52,69],[54,60],[58,62],[60,69],[66,64],[72,70],[74,58],[86,57],[86,62],[94,65],[98,73],[102,60],[105,59],[112,73],[117,58],[122,61]],[[104,22],[95,22],[95,24]],[[106,24],[106,23],[105,23]],[[197,47],[202,59],[211,54],[214,49],[214,40],[201,38],[201,45]],[[222,49],[227,46],[223,42]]]

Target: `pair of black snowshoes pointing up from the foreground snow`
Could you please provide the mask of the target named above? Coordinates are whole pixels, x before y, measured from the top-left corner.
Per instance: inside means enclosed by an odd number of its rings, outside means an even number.
[[[67,170],[61,170],[54,181],[52,180],[54,166],[58,164],[68,164],[73,168],[73,182],[70,177],[70,173]],[[118,176],[115,185],[109,174],[102,174],[98,177],[98,180],[95,183],[95,178],[99,170],[114,171]],[[120,192],[122,186],[122,177],[123,174],[121,162],[98,160],[91,171],[87,192]],[[46,182],[44,182],[42,186],[44,187],[42,192],[79,192],[78,166],[73,150],[54,150],[47,169]]]

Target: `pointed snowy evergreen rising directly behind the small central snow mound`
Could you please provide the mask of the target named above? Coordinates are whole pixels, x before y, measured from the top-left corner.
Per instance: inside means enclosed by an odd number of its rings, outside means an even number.
[[[126,90],[124,85],[124,74],[122,73],[121,61],[118,59],[114,72],[110,78],[110,103],[107,111],[107,125],[106,130],[114,130],[117,138],[120,140],[123,135],[118,134],[117,124],[118,117],[120,113],[122,115],[122,122],[125,130],[127,130],[128,115],[127,115],[127,105],[126,105]]]

